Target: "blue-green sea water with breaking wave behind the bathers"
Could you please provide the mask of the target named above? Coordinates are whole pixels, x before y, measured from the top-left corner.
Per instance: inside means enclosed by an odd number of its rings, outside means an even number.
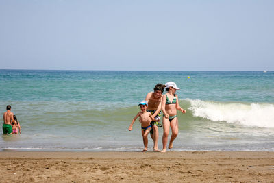
[[[28,70],[0,70],[1,111],[10,104],[22,131],[2,135],[0,151],[140,151],[140,123],[127,128],[138,103],[169,81],[187,111],[173,150],[274,151],[272,71]]]

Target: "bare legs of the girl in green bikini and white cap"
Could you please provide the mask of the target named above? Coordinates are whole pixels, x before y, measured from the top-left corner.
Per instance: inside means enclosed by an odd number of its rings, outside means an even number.
[[[169,138],[169,127],[171,127],[171,140],[169,141],[169,149],[173,147],[173,141],[178,135],[178,120],[177,117],[175,117],[171,122],[169,122],[169,119],[164,118],[163,119],[163,127],[164,127],[164,133],[162,136],[162,143],[163,143],[163,149],[161,152],[166,152],[166,145]]]

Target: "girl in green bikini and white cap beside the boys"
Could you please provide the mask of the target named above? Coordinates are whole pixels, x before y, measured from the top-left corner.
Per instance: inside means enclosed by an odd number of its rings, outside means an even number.
[[[166,152],[166,145],[169,137],[169,128],[171,127],[171,140],[169,141],[169,149],[173,147],[173,141],[178,134],[178,119],[177,119],[177,110],[180,110],[182,113],[186,113],[186,110],[179,106],[178,95],[176,95],[176,90],[179,90],[177,85],[174,82],[167,82],[166,86],[166,95],[162,97],[162,112],[164,113],[163,118],[163,127],[164,133],[162,136],[163,149],[161,152]]]

